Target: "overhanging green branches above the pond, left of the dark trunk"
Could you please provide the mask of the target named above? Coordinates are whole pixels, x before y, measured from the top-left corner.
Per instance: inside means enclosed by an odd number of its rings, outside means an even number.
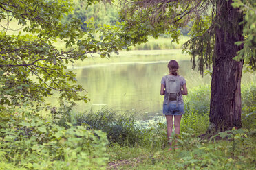
[[[131,1],[121,5],[121,17],[127,21],[127,32],[137,34],[131,40],[134,43],[147,41],[148,35],[157,38],[159,33],[171,34],[172,42],[178,42],[180,29],[189,25],[192,38],[183,47],[193,56],[193,69],[198,64],[200,73],[204,73],[204,66],[211,66],[213,54],[214,33],[211,23],[215,15],[214,4],[214,1],[200,0]],[[147,31],[142,31],[141,27]],[[138,36],[142,37],[138,39]],[[207,45],[204,45],[205,42]],[[199,56],[199,60],[195,60],[195,56]]]

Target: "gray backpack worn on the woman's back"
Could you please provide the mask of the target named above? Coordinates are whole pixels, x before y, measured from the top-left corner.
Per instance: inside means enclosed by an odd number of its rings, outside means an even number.
[[[171,78],[167,79],[165,82],[165,95],[167,97],[167,103],[169,103],[169,101],[177,101],[178,104],[180,90],[181,86],[179,76],[177,76],[177,78],[174,80],[171,80]]]

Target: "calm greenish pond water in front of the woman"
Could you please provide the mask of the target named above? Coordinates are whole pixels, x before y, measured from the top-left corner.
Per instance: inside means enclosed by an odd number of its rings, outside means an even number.
[[[119,62],[119,60],[123,62]],[[77,109],[135,110],[140,114],[162,113],[163,96],[160,95],[160,81],[167,75],[169,60],[178,60],[180,75],[187,80],[188,88],[209,83],[210,78],[200,76],[191,70],[188,56],[175,53],[118,56],[100,63],[91,58],[88,63],[74,66],[78,84],[87,90],[90,101],[78,104]],[[94,63],[92,63],[94,62]],[[84,64],[84,65],[83,65]]]

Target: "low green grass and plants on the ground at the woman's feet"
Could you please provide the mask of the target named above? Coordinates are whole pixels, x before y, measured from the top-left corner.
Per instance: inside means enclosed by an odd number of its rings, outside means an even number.
[[[180,147],[168,151],[168,147],[152,151],[147,147],[120,147],[112,145],[107,148],[109,169],[255,169],[255,136],[244,138],[238,143],[232,158],[232,142],[199,142],[189,148]]]

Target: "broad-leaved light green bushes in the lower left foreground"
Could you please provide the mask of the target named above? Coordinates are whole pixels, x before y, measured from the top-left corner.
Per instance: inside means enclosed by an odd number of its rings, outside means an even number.
[[[1,120],[1,168],[105,169],[108,159],[104,132],[85,126],[59,126],[36,114],[11,114]],[[25,118],[24,118],[25,117]]]

